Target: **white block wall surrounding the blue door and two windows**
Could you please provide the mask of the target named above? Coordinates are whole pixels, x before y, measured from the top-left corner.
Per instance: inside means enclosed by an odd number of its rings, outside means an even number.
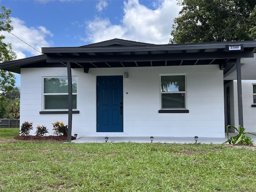
[[[96,132],[96,76],[124,75],[124,132]],[[158,113],[160,75],[185,74],[189,113]],[[68,114],[39,114],[42,110],[42,77],[67,76],[66,68],[22,68],[20,123],[68,124]],[[77,110],[73,114],[72,135],[83,136],[172,136],[224,137],[223,71],[218,65],[133,68],[72,69],[78,77]],[[126,94],[127,93],[127,94]]]

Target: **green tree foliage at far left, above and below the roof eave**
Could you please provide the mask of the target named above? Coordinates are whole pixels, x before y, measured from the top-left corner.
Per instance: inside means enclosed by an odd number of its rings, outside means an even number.
[[[0,62],[7,62],[16,58],[10,43],[5,43],[5,36],[2,31],[10,32],[13,30],[10,20],[10,9],[1,6],[0,12]],[[15,84],[15,77],[11,72],[0,69],[0,118],[8,116],[8,99],[5,97],[8,91],[12,90]]]

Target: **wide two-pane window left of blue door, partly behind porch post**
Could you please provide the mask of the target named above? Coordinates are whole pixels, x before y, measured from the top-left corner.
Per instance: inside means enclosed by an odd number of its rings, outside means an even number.
[[[44,110],[68,109],[68,78],[44,78]],[[77,78],[72,77],[72,108],[77,108]]]

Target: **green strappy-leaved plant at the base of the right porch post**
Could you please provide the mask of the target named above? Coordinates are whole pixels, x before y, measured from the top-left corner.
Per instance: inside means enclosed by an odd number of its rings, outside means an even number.
[[[228,136],[228,127],[234,128],[238,132],[238,134],[234,135],[234,136],[231,136],[229,138],[229,136]],[[227,130],[228,140],[226,142],[224,142],[223,144],[226,144],[228,142],[229,144],[232,143],[233,145],[236,145],[236,144],[249,145],[249,146],[253,145],[252,138],[246,136],[245,134],[252,134],[252,135],[256,135],[256,134],[251,133],[251,132],[245,132],[245,128],[244,127],[241,127],[239,125],[238,128],[236,128],[234,126],[228,125],[226,130]]]

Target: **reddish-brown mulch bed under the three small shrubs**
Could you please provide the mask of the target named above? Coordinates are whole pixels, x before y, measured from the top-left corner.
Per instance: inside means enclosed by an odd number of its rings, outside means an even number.
[[[66,135],[61,135],[61,136],[32,136],[32,135],[20,135],[20,136],[15,136],[14,139],[16,140],[31,140],[31,141],[39,141],[39,140],[57,140],[57,141],[67,141],[67,136]],[[71,136],[71,140],[75,140],[73,136]]]

